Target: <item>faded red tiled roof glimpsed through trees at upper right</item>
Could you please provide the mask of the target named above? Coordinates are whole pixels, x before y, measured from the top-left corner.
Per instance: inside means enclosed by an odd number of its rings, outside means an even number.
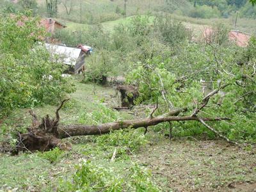
[[[213,36],[213,31],[210,28],[204,30],[204,38],[207,43],[210,43]],[[235,42],[239,47],[246,47],[249,44],[251,35],[241,31],[232,30],[228,33],[230,41]]]

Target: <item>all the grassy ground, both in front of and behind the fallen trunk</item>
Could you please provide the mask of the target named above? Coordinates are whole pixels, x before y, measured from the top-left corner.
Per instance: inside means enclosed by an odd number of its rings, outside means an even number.
[[[76,124],[82,113],[97,111],[100,105],[108,109],[118,106],[113,88],[79,83],[79,77],[75,81],[77,91],[61,109],[61,124]],[[45,106],[33,110],[38,116],[53,116],[55,109],[56,106]],[[118,118],[127,119],[134,118],[131,112],[134,111],[115,113]],[[141,116],[147,115],[142,110]],[[28,109],[13,112],[4,124],[9,127],[31,124]],[[143,131],[138,129],[136,136],[143,136]],[[125,132],[122,135],[125,136]],[[0,154],[0,191],[56,191],[61,181],[72,178],[75,165],[85,159],[111,168],[117,175],[125,175],[135,162],[151,170],[161,191],[253,191],[256,188],[256,151],[252,147],[238,148],[224,141],[193,137],[170,141],[163,133],[149,129],[145,136],[147,144],[125,156],[117,154],[116,160],[111,161],[116,147],[108,143],[102,147],[97,140],[100,137],[68,138],[66,141],[73,143],[72,150],[61,153],[54,163],[41,153]]]

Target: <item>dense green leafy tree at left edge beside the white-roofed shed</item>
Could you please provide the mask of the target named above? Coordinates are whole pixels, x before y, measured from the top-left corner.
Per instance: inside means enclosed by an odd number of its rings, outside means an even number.
[[[45,35],[37,23],[38,19],[25,20],[22,15],[1,17],[1,115],[15,108],[56,104],[65,93],[74,92],[69,79],[61,77],[63,65],[51,61],[50,53],[35,43]]]

